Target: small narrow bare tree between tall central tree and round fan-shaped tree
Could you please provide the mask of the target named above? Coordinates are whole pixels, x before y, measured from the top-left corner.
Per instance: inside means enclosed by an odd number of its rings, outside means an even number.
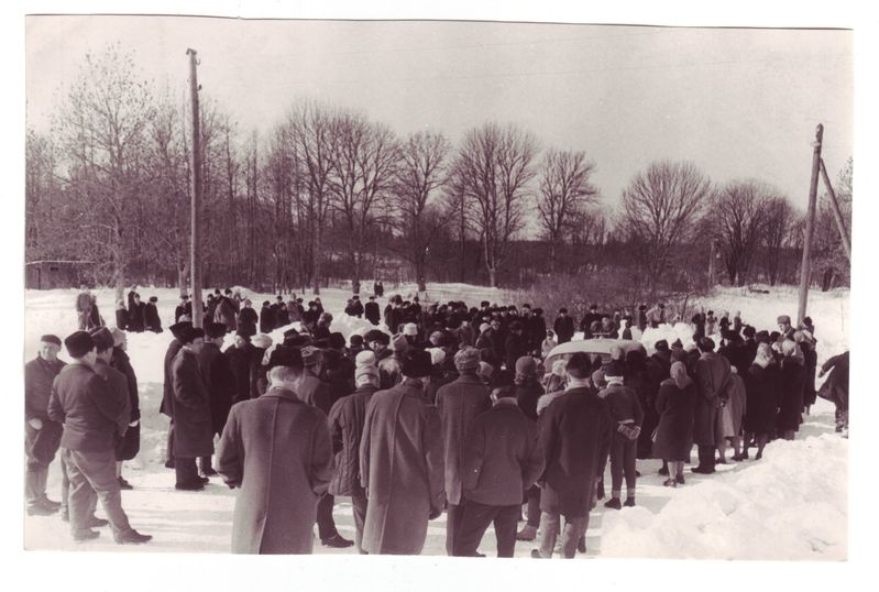
[[[550,271],[556,271],[557,250],[574,229],[584,208],[596,201],[598,190],[590,183],[595,163],[585,152],[549,150],[543,156],[537,211],[549,243]]]

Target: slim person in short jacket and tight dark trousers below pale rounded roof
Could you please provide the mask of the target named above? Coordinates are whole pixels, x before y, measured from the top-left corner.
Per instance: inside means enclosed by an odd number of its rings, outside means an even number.
[[[598,397],[607,403],[611,416],[616,421],[616,429],[611,440],[611,500],[604,507],[619,509],[619,495],[623,490],[623,476],[626,478],[626,506],[635,505],[635,457],[638,436],[644,421],[644,409],[637,393],[624,386],[626,370],[619,362],[611,362],[604,369],[607,387],[598,393]]]

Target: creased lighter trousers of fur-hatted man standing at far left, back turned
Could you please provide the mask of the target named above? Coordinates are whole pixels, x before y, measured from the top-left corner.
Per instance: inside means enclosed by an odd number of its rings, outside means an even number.
[[[131,530],[128,516],[122,509],[122,493],[116,476],[116,451],[80,452],[64,449],[62,452],[70,480],[69,515],[74,535],[88,530],[88,520],[94,514],[96,497],[100,500],[113,534],[119,536]]]

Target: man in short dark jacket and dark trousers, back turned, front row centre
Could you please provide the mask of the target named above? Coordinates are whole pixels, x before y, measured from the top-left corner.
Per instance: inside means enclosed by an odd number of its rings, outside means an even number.
[[[530,489],[543,471],[537,425],[516,403],[516,387],[495,388],[493,407],[471,426],[461,459],[464,512],[454,555],[476,557],[482,537],[494,523],[497,557],[513,557],[516,523],[521,511],[518,492]]]

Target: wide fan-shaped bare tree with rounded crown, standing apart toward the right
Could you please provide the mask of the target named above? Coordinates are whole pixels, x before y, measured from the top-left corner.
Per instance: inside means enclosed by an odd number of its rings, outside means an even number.
[[[711,197],[711,182],[692,163],[657,162],[623,191],[623,229],[635,242],[651,296]]]

